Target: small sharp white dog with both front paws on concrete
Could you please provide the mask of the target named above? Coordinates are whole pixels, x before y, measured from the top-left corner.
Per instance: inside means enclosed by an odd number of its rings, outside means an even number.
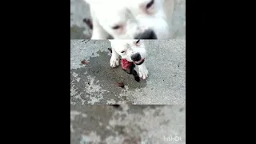
[[[138,76],[146,79],[148,70],[146,68],[146,48],[142,40],[109,40],[112,47],[110,66],[119,65],[119,55],[128,62],[138,66]]]

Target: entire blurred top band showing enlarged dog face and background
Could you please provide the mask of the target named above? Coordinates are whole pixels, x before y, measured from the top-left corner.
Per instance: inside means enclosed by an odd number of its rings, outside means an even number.
[[[71,0],[70,13],[71,39],[185,37],[186,10],[181,0]]]

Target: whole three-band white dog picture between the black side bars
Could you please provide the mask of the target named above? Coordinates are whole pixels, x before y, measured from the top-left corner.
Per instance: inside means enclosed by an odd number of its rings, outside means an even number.
[[[70,0],[70,143],[186,144],[186,0]]]

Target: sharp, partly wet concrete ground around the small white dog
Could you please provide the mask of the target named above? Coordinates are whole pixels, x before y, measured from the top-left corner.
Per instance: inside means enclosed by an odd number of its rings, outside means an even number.
[[[136,82],[122,66],[110,67],[108,40],[70,40],[70,104],[185,105],[185,39],[145,40],[145,45],[149,78]]]

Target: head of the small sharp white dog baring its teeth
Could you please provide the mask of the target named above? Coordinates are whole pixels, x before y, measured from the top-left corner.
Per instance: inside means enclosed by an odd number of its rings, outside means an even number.
[[[146,58],[146,48],[143,40],[109,40],[112,48],[129,62],[142,64]]]

